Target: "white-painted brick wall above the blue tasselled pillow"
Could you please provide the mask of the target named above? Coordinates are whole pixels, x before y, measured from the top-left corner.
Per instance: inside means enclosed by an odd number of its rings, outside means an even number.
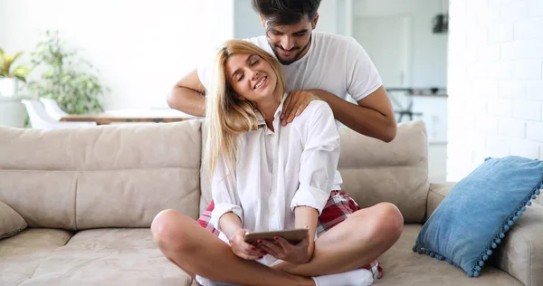
[[[543,0],[451,0],[447,179],[543,159]]]

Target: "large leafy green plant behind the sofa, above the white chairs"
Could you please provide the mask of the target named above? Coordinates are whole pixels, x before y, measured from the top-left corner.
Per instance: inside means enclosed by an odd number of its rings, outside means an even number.
[[[68,48],[58,31],[47,31],[31,57],[33,70],[42,71],[40,80],[28,82],[34,94],[56,100],[69,114],[103,110],[101,98],[109,90],[101,85],[97,70]]]

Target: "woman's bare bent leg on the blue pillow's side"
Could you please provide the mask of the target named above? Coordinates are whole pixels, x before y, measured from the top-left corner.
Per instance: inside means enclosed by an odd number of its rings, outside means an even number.
[[[319,236],[306,264],[282,262],[273,268],[303,276],[348,272],[385,253],[402,234],[404,217],[395,205],[381,203],[358,210]]]

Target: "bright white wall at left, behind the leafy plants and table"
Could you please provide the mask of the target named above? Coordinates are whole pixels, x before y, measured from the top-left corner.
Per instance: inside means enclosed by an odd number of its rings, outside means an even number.
[[[58,29],[100,69],[106,108],[166,107],[174,83],[233,37],[232,1],[0,0],[0,46],[28,55]]]

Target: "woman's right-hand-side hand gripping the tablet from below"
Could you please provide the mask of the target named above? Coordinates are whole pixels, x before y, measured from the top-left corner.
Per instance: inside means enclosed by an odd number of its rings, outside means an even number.
[[[258,248],[271,256],[293,264],[304,264],[313,256],[314,243],[306,236],[300,243],[294,245],[280,236],[274,237],[275,243],[264,240],[257,242]]]

